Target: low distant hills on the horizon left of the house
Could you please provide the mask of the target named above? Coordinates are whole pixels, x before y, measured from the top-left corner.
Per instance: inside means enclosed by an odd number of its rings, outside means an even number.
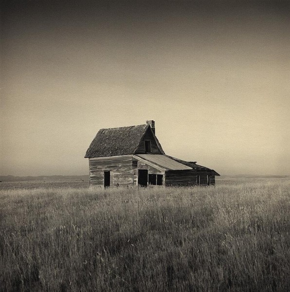
[[[18,177],[13,175],[0,176],[0,182],[23,181],[89,181],[88,175],[43,175]]]

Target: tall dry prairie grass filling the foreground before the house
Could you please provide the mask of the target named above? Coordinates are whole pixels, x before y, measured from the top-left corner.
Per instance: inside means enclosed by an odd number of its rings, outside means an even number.
[[[1,191],[0,291],[290,291],[289,181]]]

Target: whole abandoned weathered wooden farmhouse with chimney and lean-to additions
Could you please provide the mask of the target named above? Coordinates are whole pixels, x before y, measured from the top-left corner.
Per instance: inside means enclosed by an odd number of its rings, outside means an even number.
[[[214,185],[213,169],[164,153],[155,136],[155,122],[100,129],[91,142],[90,186]]]

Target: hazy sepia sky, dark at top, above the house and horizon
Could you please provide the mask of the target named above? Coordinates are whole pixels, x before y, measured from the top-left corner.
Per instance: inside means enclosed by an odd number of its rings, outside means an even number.
[[[168,155],[290,175],[288,3],[1,1],[0,175],[87,174],[148,119]]]

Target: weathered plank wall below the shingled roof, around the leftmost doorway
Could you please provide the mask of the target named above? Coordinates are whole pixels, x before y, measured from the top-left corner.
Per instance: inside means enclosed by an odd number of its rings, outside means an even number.
[[[110,186],[132,185],[132,156],[89,158],[90,186],[104,186],[104,170],[110,171]]]

